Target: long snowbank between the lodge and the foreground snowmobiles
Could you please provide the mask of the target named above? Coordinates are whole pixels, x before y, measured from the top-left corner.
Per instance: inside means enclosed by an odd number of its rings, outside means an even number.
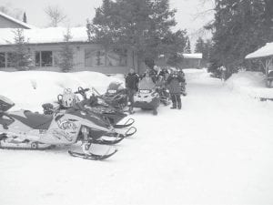
[[[56,73],[47,71],[0,72],[0,95],[15,102],[13,109],[41,111],[41,105],[56,101],[64,88],[95,87],[101,93],[113,82],[122,82],[116,77],[107,77],[96,72]],[[102,83],[103,82],[103,83]]]

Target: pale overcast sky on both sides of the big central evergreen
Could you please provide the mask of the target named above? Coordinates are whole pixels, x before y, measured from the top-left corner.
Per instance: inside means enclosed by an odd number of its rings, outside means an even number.
[[[198,13],[210,6],[201,5],[200,0],[169,1],[171,8],[177,9],[177,28],[186,28],[189,35],[196,34],[196,31],[211,18],[211,15],[208,15],[195,19]],[[22,9],[26,13],[27,23],[39,27],[47,26],[49,23],[44,12],[46,5],[58,5],[64,11],[68,20],[63,26],[85,26],[86,18],[92,19],[95,8],[101,4],[102,0],[1,0],[0,3],[0,5]]]

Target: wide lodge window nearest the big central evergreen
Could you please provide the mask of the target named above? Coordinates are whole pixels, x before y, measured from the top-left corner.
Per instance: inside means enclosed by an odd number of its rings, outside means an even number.
[[[85,66],[86,67],[126,67],[127,54],[126,50],[113,49],[112,51],[104,51],[102,49],[86,49],[85,50]]]

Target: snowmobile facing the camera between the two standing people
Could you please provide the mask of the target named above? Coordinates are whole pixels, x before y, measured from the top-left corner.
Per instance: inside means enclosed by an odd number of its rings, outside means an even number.
[[[156,85],[151,77],[144,77],[139,82],[139,88],[134,96],[134,108],[142,108],[153,110],[153,114],[157,115],[157,108],[160,103],[160,97],[156,90]]]

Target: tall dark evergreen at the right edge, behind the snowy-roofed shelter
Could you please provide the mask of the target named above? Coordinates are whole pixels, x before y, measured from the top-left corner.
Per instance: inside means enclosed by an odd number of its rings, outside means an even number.
[[[229,74],[245,66],[245,56],[273,41],[271,0],[217,0],[211,70],[224,65]]]

